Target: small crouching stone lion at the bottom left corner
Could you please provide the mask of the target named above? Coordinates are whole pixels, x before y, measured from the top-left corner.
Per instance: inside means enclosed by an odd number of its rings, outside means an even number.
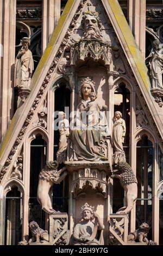
[[[48,235],[48,231],[47,230],[43,230],[39,227],[39,225],[37,224],[37,222],[32,221],[29,223],[29,229],[32,233],[32,238],[29,239],[28,244],[30,245],[30,243],[42,243],[42,244],[47,244],[48,245],[48,241],[49,241],[49,235]]]

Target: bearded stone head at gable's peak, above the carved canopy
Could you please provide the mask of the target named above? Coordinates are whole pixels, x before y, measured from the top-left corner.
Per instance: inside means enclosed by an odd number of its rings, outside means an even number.
[[[83,39],[102,39],[102,22],[96,11],[86,11],[84,13],[82,26],[84,28]]]

